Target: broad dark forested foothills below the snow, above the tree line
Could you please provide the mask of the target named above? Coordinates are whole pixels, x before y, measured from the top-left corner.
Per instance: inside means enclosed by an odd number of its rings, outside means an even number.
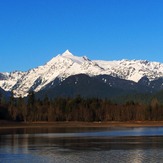
[[[150,92],[150,89],[140,84],[112,77],[110,75],[89,76],[78,74],[67,77],[62,82],[56,78],[44,89],[36,93],[41,98],[48,95],[49,98],[56,97],[98,97],[114,99],[135,93]]]

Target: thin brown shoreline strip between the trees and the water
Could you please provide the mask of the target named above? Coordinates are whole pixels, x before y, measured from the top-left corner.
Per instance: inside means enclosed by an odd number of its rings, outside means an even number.
[[[8,122],[0,121],[1,129],[14,128],[112,128],[112,127],[163,127],[163,121],[127,121],[127,122]]]

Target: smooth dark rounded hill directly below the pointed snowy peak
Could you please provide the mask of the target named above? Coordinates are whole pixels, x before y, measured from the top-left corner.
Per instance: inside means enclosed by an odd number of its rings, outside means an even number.
[[[59,81],[59,80],[58,80]],[[122,92],[118,88],[108,87],[100,80],[90,77],[85,74],[72,75],[64,81],[57,84],[49,84],[49,87],[39,91],[36,96],[44,97],[48,95],[49,98],[56,97],[99,97],[106,98],[117,95]]]

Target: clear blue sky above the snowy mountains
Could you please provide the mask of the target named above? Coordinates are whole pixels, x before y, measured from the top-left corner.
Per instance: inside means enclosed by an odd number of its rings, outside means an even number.
[[[163,0],[0,0],[0,72],[26,71],[67,49],[163,62]]]

